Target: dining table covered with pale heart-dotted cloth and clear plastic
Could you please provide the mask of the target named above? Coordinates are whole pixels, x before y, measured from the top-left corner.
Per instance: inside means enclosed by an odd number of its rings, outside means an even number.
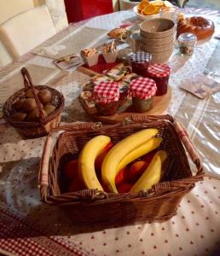
[[[46,137],[25,138],[3,119],[3,104],[23,88],[20,69],[26,67],[33,84],[46,84],[65,97],[61,122],[95,121],[78,96],[90,75],[77,67],[59,68],[55,59],[101,47],[115,27],[134,25],[133,10],[101,15],[69,24],[61,32],[0,69],[0,254],[3,255],[220,255],[220,91],[200,99],[182,85],[220,83],[220,12],[181,9],[186,16],[213,20],[212,38],[198,42],[193,55],[182,55],[176,45],[171,67],[171,102],[161,114],[171,114],[184,125],[200,154],[205,177],[182,198],[177,214],[165,222],[109,228],[101,224],[73,224],[61,207],[43,203],[38,172]],[[25,39],[24,39],[25,40]],[[126,43],[119,44],[123,49]],[[188,159],[189,160],[189,159]],[[195,167],[189,160],[191,170]],[[74,222],[75,223],[75,222]]]

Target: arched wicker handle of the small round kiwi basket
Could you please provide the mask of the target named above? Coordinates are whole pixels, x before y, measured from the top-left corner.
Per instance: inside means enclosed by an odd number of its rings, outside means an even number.
[[[42,104],[41,104],[41,102],[38,98],[38,95],[37,95],[36,91],[34,90],[34,86],[32,84],[31,76],[30,76],[29,72],[27,71],[26,67],[22,67],[21,70],[20,70],[20,73],[22,74],[23,79],[24,79],[25,89],[26,90],[28,90],[28,89],[32,90],[32,94],[33,94],[34,99],[37,103],[37,107],[38,107],[38,111],[39,111],[39,121],[43,125],[43,121],[44,121],[46,116],[43,113]]]

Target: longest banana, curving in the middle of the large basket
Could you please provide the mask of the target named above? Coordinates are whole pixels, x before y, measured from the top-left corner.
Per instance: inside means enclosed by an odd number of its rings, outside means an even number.
[[[109,191],[117,193],[118,190],[115,186],[115,177],[119,172],[119,163],[124,159],[127,154],[132,150],[146,143],[158,133],[157,129],[144,129],[138,131],[129,137],[124,138],[121,142],[117,143],[110,149],[101,165],[101,178],[107,185]]]

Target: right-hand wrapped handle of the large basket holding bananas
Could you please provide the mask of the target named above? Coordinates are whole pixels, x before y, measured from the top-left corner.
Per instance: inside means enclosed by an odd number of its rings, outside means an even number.
[[[196,176],[203,175],[204,172],[203,172],[203,167],[200,160],[200,155],[198,154],[196,148],[194,148],[194,144],[191,142],[190,138],[188,137],[188,132],[186,131],[185,127],[177,121],[173,122],[173,127],[177,132],[178,137],[182,141],[182,144],[186,148],[191,160],[193,160],[194,165],[197,168],[198,172],[196,173]]]

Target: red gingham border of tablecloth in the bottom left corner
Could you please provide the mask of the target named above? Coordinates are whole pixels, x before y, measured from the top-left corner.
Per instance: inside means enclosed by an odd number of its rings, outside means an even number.
[[[0,251],[2,250],[5,255],[17,256],[94,255],[84,251],[75,241],[46,234],[45,227],[33,224],[30,219],[21,218],[15,212],[9,212],[0,203]]]

